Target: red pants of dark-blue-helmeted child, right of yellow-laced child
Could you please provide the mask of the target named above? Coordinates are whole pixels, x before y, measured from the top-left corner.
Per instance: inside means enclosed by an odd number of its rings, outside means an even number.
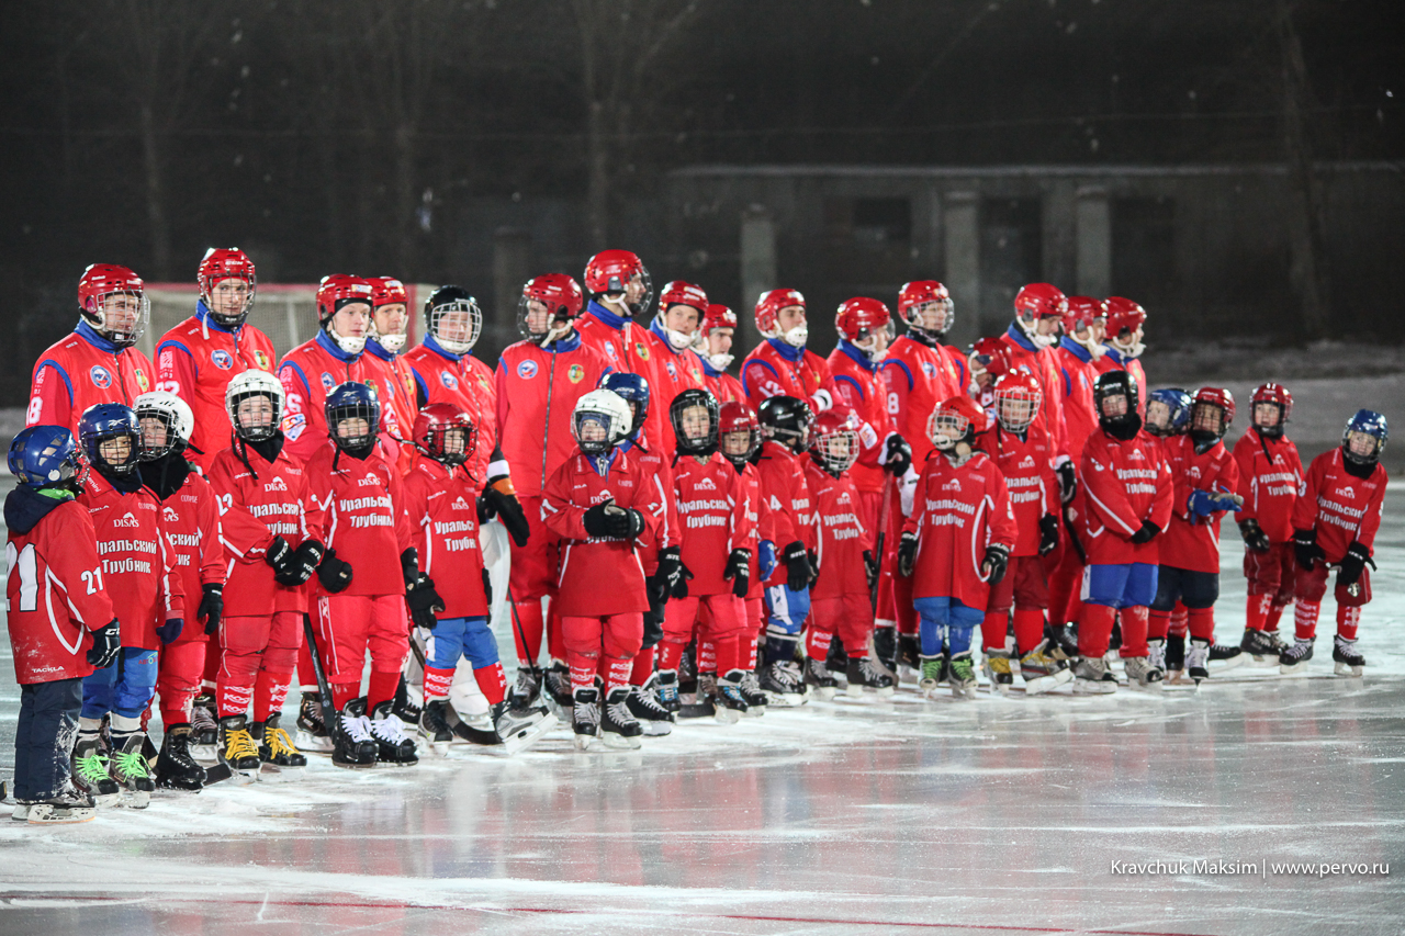
[[[400,594],[327,594],[313,610],[332,701],[337,711],[360,696],[365,654],[371,652],[367,711],[395,698],[400,668],[409,654],[409,624]]]

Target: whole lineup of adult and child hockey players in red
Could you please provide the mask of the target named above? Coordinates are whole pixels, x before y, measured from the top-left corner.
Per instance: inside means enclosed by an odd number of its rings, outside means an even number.
[[[89,267],[34,367],[4,507],[30,825],[320,758],[725,752],[853,703],[1172,704],[1367,666],[1385,417],[1342,413],[1304,465],[1283,384],[1154,388],[1127,298],[1028,284],[960,350],[947,290],[915,281],[896,316],[843,302],[825,358],[802,294],[771,290],[733,375],[736,313],[672,281],[651,316],[625,250],[583,290],[530,280],[496,368],[459,287],[406,349],[398,280],[326,277],[320,330],[277,361],[251,260],[212,249],[198,281],[153,365],[142,280]],[[1222,575],[1242,632],[1217,634]]]

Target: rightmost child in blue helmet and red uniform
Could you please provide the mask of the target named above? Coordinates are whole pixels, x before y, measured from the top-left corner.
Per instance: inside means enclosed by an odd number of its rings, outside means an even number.
[[[1307,489],[1293,506],[1293,550],[1298,564],[1293,599],[1295,637],[1279,658],[1281,672],[1302,669],[1312,659],[1316,618],[1326,594],[1331,566],[1336,573],[1336,639],[1332,661],[1338,676],[1360,676],[1366,659],[1356,649],[1361,607],[1371,600],[1371,561],[1381,527],[1385,468],[1381,451],[1388,438],[1385,417],[1370,409],[1356,412],[1342,431],[1342,446],[1312,460]]]

